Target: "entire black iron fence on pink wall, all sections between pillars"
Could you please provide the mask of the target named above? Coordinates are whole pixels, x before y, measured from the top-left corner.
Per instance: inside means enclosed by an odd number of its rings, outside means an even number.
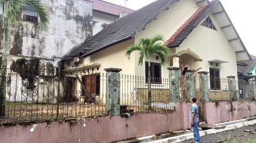
[[[180,78],[180,77],[177,77]],[[181,101],[188,102],[181,78]],[[203,89],[195,75],[195,96],[202,101]],[[88,118],[108,115],[106,111],[106,73],[89,73],[85,70],[61,71],[60,69],[13,65],[6,69],[5,116],[0,122],[59,120],[67,118]],[[147,79],[142,76],[122,75],[120,77],[121,113],[170,112],[175,111],[169,79]],[[214,81],[214,84],[210,83]],[[228,79],[209,79],[211,101],[229,100]],[[238,81],[237,81],[238,85]],[[217,87],[217,88],[216,88]],[[151,102],[148,90],[151,89]],[[238,95],[239,96],[239,95]],[[239,98],[238,98],[239,99]],[[148,109],[148,105],[151,109]],[[200,102],[199,102],[200,105]]]

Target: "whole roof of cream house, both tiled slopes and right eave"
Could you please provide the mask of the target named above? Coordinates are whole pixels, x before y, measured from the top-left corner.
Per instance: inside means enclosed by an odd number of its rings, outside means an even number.
[[[133,38],[138,32],[142,31],[147,24],[157,18],[159,14],[167,10],[176,1],[178,0],[158,0],[124,16],[102,29],[102,31],[98,32],[89,40],[73,48],[68,54],[64,55],[63,60],[72,59],[72,57],[84,58]],[[232,45],[234,51],[236,51],[237,61],[251,59],[241,38],[238,36],[236,29],[234,29],[232,22],[226,14],[224,7],[218,0],[213,0],[209,2],[208,5],[199,7],[191,18],[189,18],[167,41],[166,45],[169,47],[179,46],[210,11],[213,12],[230,45]]]

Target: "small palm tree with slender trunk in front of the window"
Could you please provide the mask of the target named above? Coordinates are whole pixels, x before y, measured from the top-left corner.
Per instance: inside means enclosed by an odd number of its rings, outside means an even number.
[[[128,47],[125,55],[130,59],[130,54],[133,51],[139,51],[138,64],[142,66],[145,59],[148,63],[148,108],[151,109],[151,72],[150,72],[150,56],[156,54],[161,59],[161,64],[166,63],[166,60],[170,56],[170,49],[163,45],[164,37],[160,34],[156,34],[151,38],[139,38],[139,43]]]

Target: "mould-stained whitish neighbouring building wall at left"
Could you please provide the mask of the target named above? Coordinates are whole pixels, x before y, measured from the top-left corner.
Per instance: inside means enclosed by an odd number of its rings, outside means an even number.
[[[27,99],[24,98],[23,90],[26,90],[25,96],[33,92],[35,84],[38,84],[36,81],[38,76],[54,78],[55,68],[59,66],[60,57],[71,47],[92,37],[92,2],[86,0],[40,0],[40,2],[46,5],[50,14],[46,31],[36,32],[38,14],[33,8],[26,5],[22,6],[20,23],[9,27],[7,68],[10,70],[7,70],[6,89],[9,91],[10,88],[16,87],[16,90],[12,90],[10,93],[10,101]],[[0,12],[2,12],[3,5],[0,6]],[[0,34],[2,35],[2,30]],[[3,52],[1,49],[0,67]],[[11,73],[19,73],[19,76],[13,77],[14,75]],[[28,76],[33,76],[33,78],[28,78]],[[48,85],[48,88],[54,85],[51,81],[45,84]],[[47,91],[47,89],[42,90]],[[9,96],[6,97],[6,100],[9,101]]]

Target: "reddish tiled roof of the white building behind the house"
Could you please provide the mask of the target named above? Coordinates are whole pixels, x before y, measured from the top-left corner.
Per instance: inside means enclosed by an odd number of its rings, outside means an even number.
[[[126,12],[127,14],[134,12],[134,10],[131,10],[130,8],[118,6],[113,3],[109,3],[101,0],[89,0],[89,1],[93,2],[93,10],[98,12],[104,12],[104,13],[115,15],[115,16],[119,16],[122,12]]]

